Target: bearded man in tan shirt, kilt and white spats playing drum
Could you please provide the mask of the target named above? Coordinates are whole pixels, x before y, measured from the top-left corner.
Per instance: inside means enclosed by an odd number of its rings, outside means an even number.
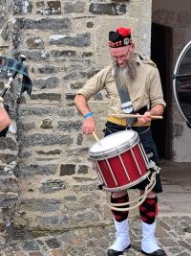
[[[74,98],[76,108],[84,117],[83,133],[91,134],[96,131],[96,119],[88,105],[88,100],[99,90],[106,89],[109,98],[109,113],[104,130],[105,136],[125,130],[127,127],[132,128],[138,132],[149,159],[158,164],[158,153],[150,130],[151,116],[162,115],[165,107],[158,68],[150,59],[144,60],[138,56],[129,28],[119,27],[116,31],[110,32],[109,46],[113,64],[102,69],[87,81],[83,88],[77,91]],[[122,93],[121,96],[121,91],[124,92],[124,89],[129,94],[129,98],[121,99],[124,95]],[[125,109],[129,106],[136,113],[141,114],[142,117],[132,122],[130,119],[114,116],[114,114],[125,112]],[[130,112],[132,112],[132,109]],[[129,124],[127,124],[128,122]],[[139,189],[140,194],[142,194],[145,186],[143,180],[135,188]],[[158,174],[156,186],[139,206],[142,225],[141,252],[145,255],[166,255],[155,238],[156,215],[158,212],[156,193],[160,192],[162,192],[162,188]],[[112,203],[128,201],[126,190],[112,192]],[[112,212],[116,227],[116,241],[110,246],[107,255],[117,256],[126,251],[131,245],[128,211],[112,210]]]

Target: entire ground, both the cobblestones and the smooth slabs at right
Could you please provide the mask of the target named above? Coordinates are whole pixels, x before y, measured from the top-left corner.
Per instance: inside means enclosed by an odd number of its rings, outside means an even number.
[[[168,256],[191,255],[191,163],[162,161],[164,192],[159,195],[157,237]],[[132,248],[126,256],[140,256],[140,223],[130,220]],[[82,239],[83,237],[83,239]],[[84,239],[86,237],[86,239]],[[13,241],[2,256],[106,256],[114,239],[113,226],[69,231],[66,235]]]

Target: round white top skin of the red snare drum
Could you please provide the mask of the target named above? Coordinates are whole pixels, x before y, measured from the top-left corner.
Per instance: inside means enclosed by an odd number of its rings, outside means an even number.
[[[134,130],[122,130],[100,139],[89,150],[92,158],[104,158],[117,155],[125,151],[139,141],[138,132]]]

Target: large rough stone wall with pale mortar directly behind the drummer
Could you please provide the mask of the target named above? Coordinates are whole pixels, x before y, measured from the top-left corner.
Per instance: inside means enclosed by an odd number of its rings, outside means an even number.
[[[16,234],[106,225],[112,219],[109,194],[96,189],[88,157],[95,139],[81,132],[74,94],[110,62],[107,37],[117,26],[132,27],[139,52],[149,56],[151,1],[14,0],[11,13],[7,53],[25,54],[32,78],[31,99],[25,95],[16,105],[17,140],[11,141],[19,186],[11,219]],[[90,105],[102,137],[105,92]]]

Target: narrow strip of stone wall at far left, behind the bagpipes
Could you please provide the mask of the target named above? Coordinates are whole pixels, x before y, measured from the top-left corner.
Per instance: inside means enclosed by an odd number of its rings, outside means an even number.
[[[10,20],[12,1],[0,1],[0,55],[11,55],[10,47]],[[7,72],[0,73],[0,90],[2,91],[8,82]],[[15,87],[17,81],[15,82]],[[16,94],[17,88],[12,89],[4,97],[4,103],[10,107],[12,128],[15,128],[16,121]],[[15,212],[15,205],[18,201],[18,183],[14,175],[18,145],[14,130],[8,132],[7,137],[0,138],[0,249],[5,244],[6,237],[12,233],[11,220]]]

